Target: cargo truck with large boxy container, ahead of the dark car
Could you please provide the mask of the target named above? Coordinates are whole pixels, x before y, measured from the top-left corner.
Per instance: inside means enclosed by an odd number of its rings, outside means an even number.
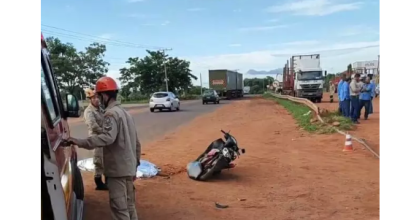
[[[220,97],[243,97],[243,74],[226,69],[209,70],[208,79],[210,89],[214,89]]]

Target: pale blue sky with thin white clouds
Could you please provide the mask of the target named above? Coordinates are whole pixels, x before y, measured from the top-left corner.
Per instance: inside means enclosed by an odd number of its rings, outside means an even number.
[[[78,49],[103,42],[113,77],[128,57],[159,48],[190,60],[203,82],[208,69],[268,71],[293,54],[320,53],[339,72],[377,59],[379,1],[42,0],[42,31]]]

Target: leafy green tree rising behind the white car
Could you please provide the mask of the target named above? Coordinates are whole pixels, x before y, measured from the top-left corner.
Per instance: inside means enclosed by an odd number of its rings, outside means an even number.
[[[133,82],[140,92],[150,94],[166,90],[165,69],[168,74],[168,90],[172,92],[187,91],[192,87],[190,62],[177,57],[169,57],[161,51],[149,51],[143,58],[129,58],[128,68],[120,69],[119,80],[123,85]]]

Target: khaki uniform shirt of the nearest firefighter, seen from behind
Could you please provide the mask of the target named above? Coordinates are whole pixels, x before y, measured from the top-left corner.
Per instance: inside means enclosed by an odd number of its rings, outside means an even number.
[[[111,101],[105,111],[103,132],[77,139],[77,145],[88,150],[103,148],[105,176],[136,176],[141,145],[133,118],[116,101]]]

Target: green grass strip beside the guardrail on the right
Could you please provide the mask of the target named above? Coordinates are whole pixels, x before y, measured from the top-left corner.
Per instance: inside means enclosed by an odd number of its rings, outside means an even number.
[[[297,121],[297,124],[305,131],[319,134],[329,134],[336,132],[333,123],[338,122],[336,128],[342,131],[348,131],[353,129],[353,124],[350,119],[339,115],[338,112],[329,112],[322,117],[326,124],[321,123],[314,118],[313,111],[303,104],[292,102],[286,99],[275,98],[271,94],[265,94],[265,98],[272,99],[278,104],[282,105]],[[337,123],[336,123],[337,124]]]

